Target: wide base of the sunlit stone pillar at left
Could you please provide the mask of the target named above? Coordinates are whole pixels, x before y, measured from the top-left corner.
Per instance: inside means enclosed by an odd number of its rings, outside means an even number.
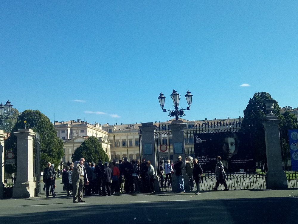
[[[15,183],[13,198],[30,198],[35,196],[35,182]]]

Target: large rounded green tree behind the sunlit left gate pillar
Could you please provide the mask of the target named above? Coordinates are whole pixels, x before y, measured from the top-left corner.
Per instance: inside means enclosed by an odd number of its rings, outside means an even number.
[[[5,142],[6,151],[14,151],[16,154],[16,136],[13,132],[24,129],[24,121],[27,121],[26,128],[31,128],[40,135],[41,143],[41,169],[51,162],[58,166],[64,155],[63,142],[57,137],[57,131],[49,118],[40,111],[26,110],[18,116],[12,135]]]

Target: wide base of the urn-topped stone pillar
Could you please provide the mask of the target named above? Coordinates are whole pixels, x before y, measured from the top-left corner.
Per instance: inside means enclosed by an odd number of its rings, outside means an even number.
[[[283,171],[268,171],[266,173],[268,189],[285,189],[288,188],[288,181]]]

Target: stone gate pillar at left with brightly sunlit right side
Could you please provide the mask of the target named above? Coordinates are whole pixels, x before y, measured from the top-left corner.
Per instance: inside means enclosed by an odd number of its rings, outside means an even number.
[[[33,140],[36,133],[32,129],[19,129],[14,134],[17,136],[17,179],[13,185],[13,197],[34,197]]]

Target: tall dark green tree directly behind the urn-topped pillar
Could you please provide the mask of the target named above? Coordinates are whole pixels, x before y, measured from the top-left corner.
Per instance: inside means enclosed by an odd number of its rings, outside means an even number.
[[[240,131],[251,138],[252,149],[255,151],[257,162],[266,161],[265,132],[262,122],[267,114],[264,100],[268,99],[272,99],[272,97],[267,92],[254,93],[254,96],[249,100],[246,109],[243,111],[243,121]],[[280,114],[278,102],[274,103],[274,110],[272,112],[280,119],[283,119],[283,116]]]

